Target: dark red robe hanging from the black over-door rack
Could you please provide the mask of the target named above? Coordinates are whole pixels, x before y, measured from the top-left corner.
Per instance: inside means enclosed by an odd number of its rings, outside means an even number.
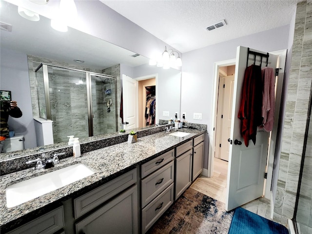
[[[242,99],[237,116],[242,120],[241,135],[244,138],[246,147],[249,145],[249,140],[252,140],[255,144],[257,126],[262,125],[263,118],[261,117],[261,87],[261,67],[254,64],[247,67],[245,70],[242,87]]]

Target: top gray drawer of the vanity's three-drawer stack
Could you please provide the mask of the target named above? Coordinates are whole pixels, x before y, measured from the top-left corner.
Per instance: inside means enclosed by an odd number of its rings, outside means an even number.
[[[150,175],[155,172],[158,168],[161,168],[163,165],[166,165],[168,162],[174,160],[175,150],[171,150],[165,154],[162,154],[147,163],[141,165],[141,178]]]

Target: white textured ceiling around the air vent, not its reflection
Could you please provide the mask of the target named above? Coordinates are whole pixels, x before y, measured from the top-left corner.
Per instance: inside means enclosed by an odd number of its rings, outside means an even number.
[[[182,53],[289,24],[300,0],[100,0]],[[227,25],[207,31],[215,22]]]

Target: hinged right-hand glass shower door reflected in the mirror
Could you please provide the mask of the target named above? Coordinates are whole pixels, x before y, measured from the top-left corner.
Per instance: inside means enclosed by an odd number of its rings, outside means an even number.
[[[116,79],[90,73],[93,136],[117,131]]]

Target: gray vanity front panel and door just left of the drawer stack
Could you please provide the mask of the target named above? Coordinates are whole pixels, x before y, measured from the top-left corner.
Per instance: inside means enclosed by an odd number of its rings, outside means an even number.
[[[137,169],[134,169],[75,198],[75,219],[82,217],[75,224],[76,234],[137,234],[136,182]]]

